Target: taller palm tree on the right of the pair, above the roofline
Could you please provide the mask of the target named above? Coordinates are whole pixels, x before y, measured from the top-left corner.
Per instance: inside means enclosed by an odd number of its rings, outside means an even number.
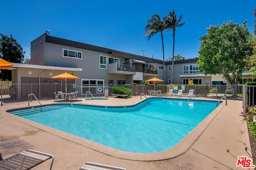
[[[166,29],[168,31],[170,31],[171,29],[173,30],[173,50],[172,50],[172,79],[173,79],[173,66],[174,66],[174,42],[175,42],[175,31],[176,31],[176,27],[182,27],[183,25],[185,25],[186,22],[184,23],[180,23],[180,20],[182,18],[182,15],[177,19],[176,18],[176,14],[175,11],[173,10],[172,12],[169,11],[169,15],[164,17],[163,20],[166,24]]]

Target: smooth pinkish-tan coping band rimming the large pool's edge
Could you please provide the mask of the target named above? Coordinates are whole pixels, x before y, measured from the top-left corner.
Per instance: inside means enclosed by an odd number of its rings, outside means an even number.
[[[182,100],[188,100],[188,99],[182,99]],[[190,100],[196,100],[196,99],[190,99]],[[137,106],[138,104],[140,104],[144,101],[145,100],[140,101],[140,102],[138,102],[134,105],[130,105],[130,106]],[[209,101],[209,100],[204,100],[204,101]],[[210,100],[210,101],[218,102],[218,100]],[[66,104],[67,103],[64,103],[63,105],[66,105]],[[55,105],[55,104],[50,104],[50,105]],[[114,149],[114,148],[90,141],[88,139],[77,137],[75,135],[71,135],[64,131],[60,131],[60,130],[54,129],[52,127],[48,127],[46,125],[42,125],[40,123],[30,121],[28,119],[13,115],[12,113],[8,113],[8,112],[6,112],[6,113],[7,113],[8,117],[12,117],[12,118],[16,119],[17,121],[20,121],[22,123],[25,123],[27,125],[35,127],[37,129],[40,129],[40,130],[50,133],[52,135],[58,136],[62,139],[66,139],[73,143],[77,143],[84,147],[90,148],[90,149],[100,152],[102,154],[106,154],[108,156],[121,158],[121,159],[125,159],[125,160],[156,161],[156,160],[166,160],[166,159],[176,158],[176,157],[186,153],[192,147],[192,145],[194,145],[194,143],[199,139],[199,137],[202,135],[204,130],[208,127],[210,122],[216,117],[216,115],[219,113],[219,111],[224,106],[225,106],[224,102],[222,102],[200,124],[198,124],[188,135],[186,135],[186,137],[184,137],[177,145],[175,145],[174,147],[172,147],[168,150],[164,150],[161,152],[154,152],[154,153],[134,153],[134,152],[127,152],[127,151]],[[29,106],[29,107],[31,107],[31,106]],[[11,110],[11,109],[9,109],[9,110]]]

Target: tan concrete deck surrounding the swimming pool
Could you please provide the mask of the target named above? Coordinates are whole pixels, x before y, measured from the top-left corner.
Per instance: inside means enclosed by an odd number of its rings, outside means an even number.
[[[133,96],[130,99],[109,98],[95,101],[79,98],[70,102],[126,106],[141,101],[140,96]],[[59,102],[62,101],[49,100],[41,103]],[[37,105],[38,102],[30,102],[30,106]],[[28,103],[0,107],[0,153],[3,159],[26,149],[33,149],[54,155],[53,170],[78,170],[86,162],[118,166],[126,170],[241,170],[244,168],[236,166],[237,160],[226,149],[230,149],[235,157],[249,157],[243,145],[246,143],[250,147],[246,122],[239,116],[242,111],[241,100],[228,100],[227,106],[222,102],[180,143],[156,153],[131,153],[112,149],[6,112],[8,109],[27,106]],[[49,169],[50,162],[46,161],[33,169]]]

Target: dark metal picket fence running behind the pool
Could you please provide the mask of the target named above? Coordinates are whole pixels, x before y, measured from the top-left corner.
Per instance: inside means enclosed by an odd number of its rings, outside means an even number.
[[[150,85],[119,85],[119,84],[67,84],[67,92],[78,91],[78,98],[84,98],[86,92],[90,92],[95,97],[105,97],[104,92],[108,89],[108,96],[111,97],[112,87],[123,86],[132,90],[132,96],[140,96],[144,93],[148,95],[148,90],[154,89],[154,84]],[[75,88],[74,88],[75,87]],[[253,88],[248,86],[246,88]],[[0,84],[1,106],[4,104],[13,104],[19,102],[28,102],[35,100],[29,94],[34,94],[38,100],[54,100],[54,92],[66,91],[65,84],[11,84],[9,82]],[[188,94],[190,89],[194,89],[194,95],[197,98],[215,98],[220,99],[226,96],[227,99],[242,100],[242,96],[246,90],[243,90],[242,85],[174,85],[174,92],[179,89],[183,93]],[[166,86],[156,86],[156,90],[162,90],[162,94],[167,93]],[[253,93],[253,92],[250,92]],[[161,95],[161,94],[160,94]],[[255,101],[254,97],[249,96],[250,100]]]

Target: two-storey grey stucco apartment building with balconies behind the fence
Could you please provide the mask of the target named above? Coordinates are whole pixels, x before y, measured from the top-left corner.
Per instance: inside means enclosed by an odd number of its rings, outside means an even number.
[[[157,77],[170,84],[173,71],[174,84],[225,84],[220,75],[200,73],[196,62],[198,58],[166,62],[80,43],[72,40],[53,37],[50,31],[31,42],[31,64],[13,66],[13,83],[61,83],[51,79],[63,72],[68,72],[81,79],[67,80],[76,84],[143,84],[146,80]],[[240,84],[252,81],[248,72],[244,72]],[[162,82],[161,82],[162,83]]]

